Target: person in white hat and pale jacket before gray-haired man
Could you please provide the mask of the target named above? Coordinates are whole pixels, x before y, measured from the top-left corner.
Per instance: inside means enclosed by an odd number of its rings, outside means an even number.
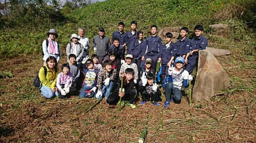
[[[79,39],[80,38],[77,34],[71,35],[71,38],[70,38],[71,43],[67,44],[66,53],[67,53],[67,57],[69,56],[69,54],[75,54],[75,56],[77,56],[76,61],[80,63],[84,56],[84,47],[81,43],[78,42]],[[69,63],[69,59],[67,59],[67,61]]]

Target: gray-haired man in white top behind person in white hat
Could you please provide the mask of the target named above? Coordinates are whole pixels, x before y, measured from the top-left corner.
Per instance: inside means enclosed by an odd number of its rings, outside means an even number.
[[[81,43],[84,46],[84,58],[89,55],[89,39],[84,36],[84,28],[78,28],[78,35],[80,40],[78,40],[79,43]]]

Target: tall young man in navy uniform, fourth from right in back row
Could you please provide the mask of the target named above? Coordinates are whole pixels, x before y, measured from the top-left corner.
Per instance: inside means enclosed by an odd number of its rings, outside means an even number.
[[[141,58],[141,65],[145,64],[145,59],[152,59],[152,67],[155,71],[157,61],[161,61],[162,58],[162,39],[156,35],[158,32],[158,27],[153,25],[150,28],[151,36],[146,39],[146,48],[143,49],[143,57]],[[147,53],[146,53],[147,52]]]

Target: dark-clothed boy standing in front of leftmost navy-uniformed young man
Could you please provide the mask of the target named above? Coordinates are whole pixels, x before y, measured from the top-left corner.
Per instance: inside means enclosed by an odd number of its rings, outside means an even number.
[[[115,58],[121,61],[121,64],[125,63],[124,61],[124,53],[125,49],[122,45],[119,43],[118,38],[113,39],[114,43],[110,46],[109,51],[115,51]]]

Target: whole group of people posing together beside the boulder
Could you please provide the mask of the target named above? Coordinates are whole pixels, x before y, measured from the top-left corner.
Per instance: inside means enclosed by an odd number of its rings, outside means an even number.
[[[165,90],[165,104],[180,103],[181,88],[188,87],[192,80],[191,73],[198,61],[199,51],[206,49],[208,42],[203,33],[203,26],[194,28],[196,38],[187,38],[188,28],[180,30],[181,39],[173,43],[172,33],[165,35],[166,43],[156,35],[158,27],[150,27],[151,35],[144,41],[143,32],[137,31],[137,22],[131,22],[131,30],[124,32],[124,23],[118,23],[118,30],[112,40],[105,36],[104,28],[98,28],[98,35],[92,39],[95,54],[89,58],[89,39],[84,36],[84,29],[72,34],[67,44],[68,63],[56,68],[60,60],[60,45],[55,29],[50,29],[43,41],[44,66],[39,71],[42,82],[42,96],[68,98],[80,91],[79,98],[106,98],[111,105],[118,104],[120,97],[135,108],[135,98],[141,94],[141,105],[151,101],[158,106],[161,91],[155,81],[157,63],[161,63],[161,81]],[[126,53],[125,53],[126,52]],[[123,81],[122,81],[123,79]],[[122,85],[123,84],[123,85]],[[123,88],[121,88],[123,87]]]

